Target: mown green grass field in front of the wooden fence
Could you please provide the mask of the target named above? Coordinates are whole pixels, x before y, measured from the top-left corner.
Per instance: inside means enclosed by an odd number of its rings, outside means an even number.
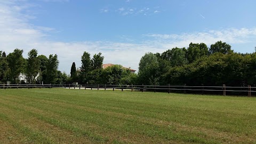
[[[256,98],[0,89],[0,143],[256,143]]]

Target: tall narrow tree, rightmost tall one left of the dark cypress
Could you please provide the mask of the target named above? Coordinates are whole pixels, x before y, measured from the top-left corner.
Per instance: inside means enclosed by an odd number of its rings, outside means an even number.
[[[49,59],[46,63],[46,84],[56,84],[58,80],[58,66],[59,60],[57,54],[49,55]]]

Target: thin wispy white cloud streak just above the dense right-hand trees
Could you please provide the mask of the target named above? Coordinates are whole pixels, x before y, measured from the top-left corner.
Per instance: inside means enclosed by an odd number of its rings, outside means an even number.
[[[229,44],[241,44],[253,42],[256,38],[256,28],[228,28],[220,30],[208,30],[183,34],[147,34],[148,43],[159,44],[163,47],[187,47],[190,42],[205,43],[211,45],[217,41],[224,41]]]

